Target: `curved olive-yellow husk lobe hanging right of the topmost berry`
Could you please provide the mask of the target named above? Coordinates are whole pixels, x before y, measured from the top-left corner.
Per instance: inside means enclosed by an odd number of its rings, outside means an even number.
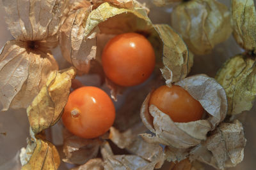
[[[189,73],[188,48],[180,36],[169,25],[155,25],[163,41],[163,76],[166,80],[172,70],[172,80],[179,81]],[[167,72],[167,73],[166,73]]]

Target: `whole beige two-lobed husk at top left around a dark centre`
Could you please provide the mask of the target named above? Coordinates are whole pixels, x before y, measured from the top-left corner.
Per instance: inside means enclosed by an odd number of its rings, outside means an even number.
[[[27,108],[47,76],[58,69],[51,48],[67,13],[68,1],[3,0],[6,23],[15,40],[0,54],[0,102],[3,110]]]

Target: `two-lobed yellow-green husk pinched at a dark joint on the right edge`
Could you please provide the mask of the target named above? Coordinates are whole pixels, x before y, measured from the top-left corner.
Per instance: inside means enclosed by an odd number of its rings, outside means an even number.
[[[251,110],[255,100],[256,11],[253,0],[232,1],[234,38],[245,52],[227,60],[216,74],[228,97],[228,115]]]

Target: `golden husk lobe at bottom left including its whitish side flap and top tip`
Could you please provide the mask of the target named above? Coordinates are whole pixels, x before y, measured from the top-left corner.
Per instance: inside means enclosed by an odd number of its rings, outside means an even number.
[[[31,139],[27,148],[20,152],[20,162],[23,169],[58,169],[60,155],[54,145],[49,141],[35,137],[30,129]]]

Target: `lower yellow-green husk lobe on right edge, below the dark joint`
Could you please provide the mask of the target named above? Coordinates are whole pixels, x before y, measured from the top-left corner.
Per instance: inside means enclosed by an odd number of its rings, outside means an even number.
[[[255,58],[236,55],[227,60],[216,74],[216,80],[223,86],[228,99],[228,115],[237,115],[251,110],[256,95]]]

